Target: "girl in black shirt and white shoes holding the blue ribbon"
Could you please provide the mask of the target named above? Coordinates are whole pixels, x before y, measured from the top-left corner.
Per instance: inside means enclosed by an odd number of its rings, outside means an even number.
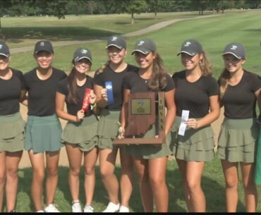
[[[121,35],[109,37],[106,48],[109,61],[97,70],[94,78],[97,106],[102,109],[98,126],[99,168],[102,182],[109,195],[109,204],[104,212],[128,212],[128,202],[133,190],[133,163],[130,156],[125,154],[121,147],[113,145],[113,140],[116,139],[119,129],[123,100],[122,80],[127,73],[138,68],[124,61],[127,49],[126,41]],[[107,82],[111,82],[112,89],[107,90]],[[111,94],[112,97],[110,97]],[[119,203],[119,183],[114,174],[118,151],[121,158],[121,205]]]

